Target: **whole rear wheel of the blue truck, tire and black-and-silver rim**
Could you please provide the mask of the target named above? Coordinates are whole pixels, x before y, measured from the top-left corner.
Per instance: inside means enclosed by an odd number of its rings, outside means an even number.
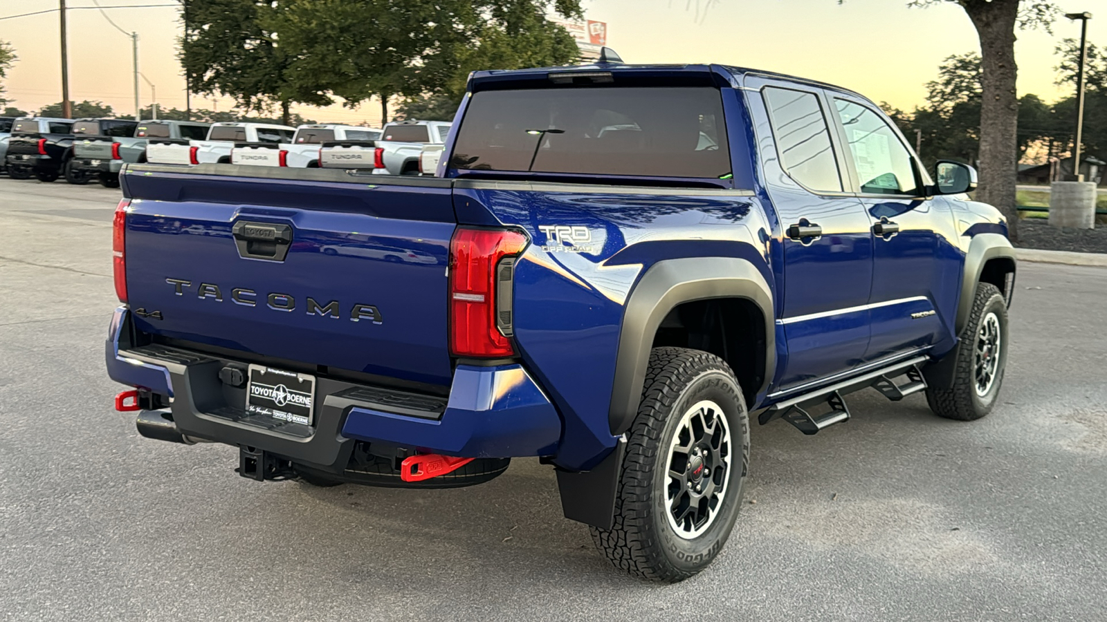
[[[650,353],[611,530],[592,540],[618,568],[676,582],[711,563],[731,535],[749,464],[749,419],[734,372],[684,348]]]

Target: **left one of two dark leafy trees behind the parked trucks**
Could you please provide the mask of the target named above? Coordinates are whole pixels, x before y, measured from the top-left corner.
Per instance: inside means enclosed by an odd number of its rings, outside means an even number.
[[[287,46],[278,42],[278,33],[267,28],[273,14],[284,10],[284,2],[187,2],[188,23],[179,59],[193,92],[234,97],[247,112],[265,113],[279,107],[286,125],[293,121],[289,111],[292,103],[332,103],[324,93],[306,89],[303,81],[296,80],[289,72],[294,53],[288,53]],[[330,34],[343,37],[337,31]]]

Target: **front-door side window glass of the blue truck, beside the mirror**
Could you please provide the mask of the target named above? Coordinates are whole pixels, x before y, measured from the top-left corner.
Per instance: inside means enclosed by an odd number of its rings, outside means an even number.
[[[835,106],[846,128],[861,191],[870,195],[919,194],[911,153],[884,120],[872,110],[846,100],[835,100]]]

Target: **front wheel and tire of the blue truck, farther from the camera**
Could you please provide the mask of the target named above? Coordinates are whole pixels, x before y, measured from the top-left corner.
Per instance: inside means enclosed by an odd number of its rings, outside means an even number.
[[[992,412],[1007,364],[1007,303],[991,283],[976,286],[969,323],[956,350],[953,386],[927,390],[927,403],[948,419],[973,421]]]

